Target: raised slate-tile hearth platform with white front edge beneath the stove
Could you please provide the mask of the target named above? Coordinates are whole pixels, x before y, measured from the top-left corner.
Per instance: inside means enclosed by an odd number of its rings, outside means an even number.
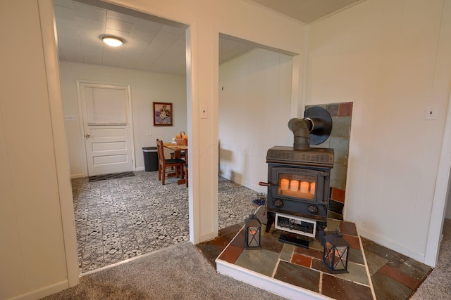
[[[265,221],[264,217],[260,218]],[[328,226],[335,222],[328,221]],[[349,273],[328,273],[322,263],[323,246],[318,240],[309,238],[309,248],[297,247],[279,242],[280,230],[274,228],[269,233],[261,234],[261,250],[245,249],[244,230],[240,230],[216,259],[216,268],[219,273],[282,296],[288,294],[289,297],[302,299],[321,299],[321,296],[332,299],[374,299],[357,229],[353,223],[338,223],[345,239],[350,242],[350,248],[354,249],[348,263]],[[230,270],[233,268],[236,269]],[[287,285],[290,285],[288,289]]]

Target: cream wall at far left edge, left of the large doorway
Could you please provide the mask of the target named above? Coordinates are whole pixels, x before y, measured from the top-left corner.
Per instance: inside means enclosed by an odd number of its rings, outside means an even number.
[[[0,299],[58,292],[69,286],[68,261],[77,265],[73,217],[61,218],[73,207],[61,102],[48,85],[57,62],[44,61],[52,51],[44,41],[52,43],[39,20],[51,11],[38,1],[0,2],[8,40],[0,49]]]

